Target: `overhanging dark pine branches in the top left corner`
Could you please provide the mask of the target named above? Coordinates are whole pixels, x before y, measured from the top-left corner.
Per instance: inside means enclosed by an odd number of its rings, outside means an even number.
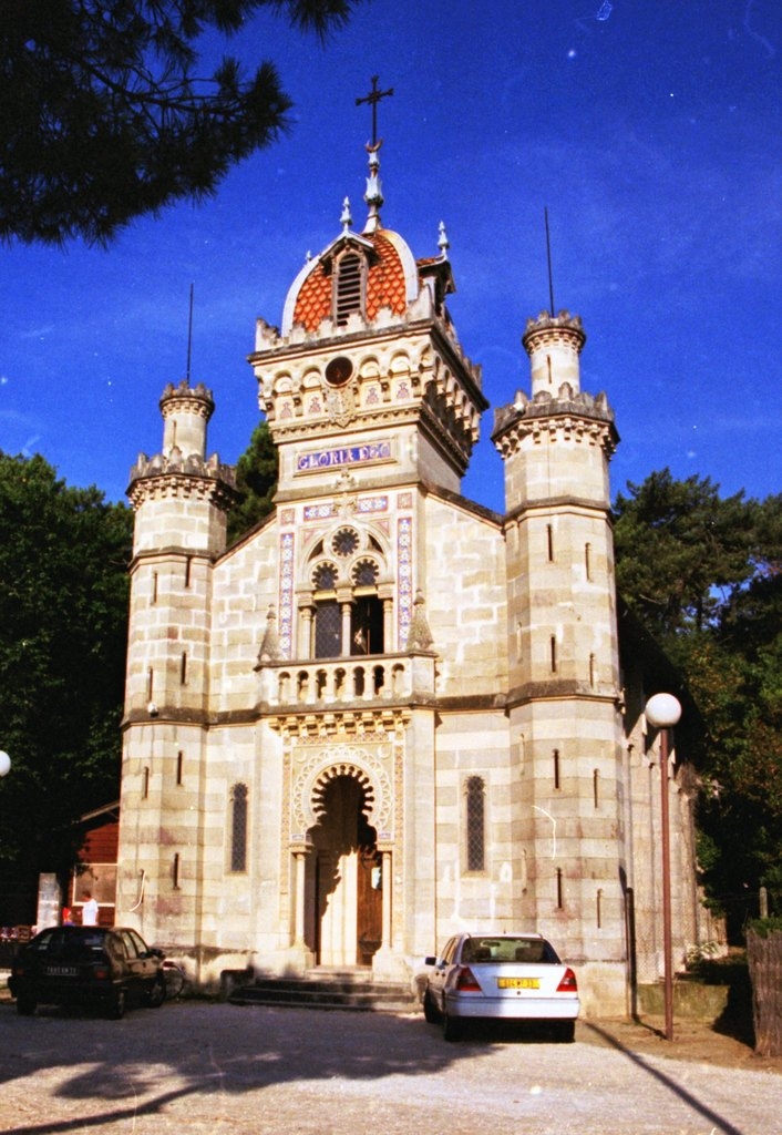
[[[213,193],[287,127],[276,68],[195,42],[259,9],[321,39],[358,0],[5,0],[0,19],[0,237],[106,243],[135,217]]]

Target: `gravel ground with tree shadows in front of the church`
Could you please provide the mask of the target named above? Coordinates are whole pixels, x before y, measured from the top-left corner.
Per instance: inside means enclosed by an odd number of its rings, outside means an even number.
[[[0,1003],[0,1130],[782,1135],[782,1061],[704,1026],[579,1022],[574,1044],[420,1015],[178,1001],[121,1022]]]

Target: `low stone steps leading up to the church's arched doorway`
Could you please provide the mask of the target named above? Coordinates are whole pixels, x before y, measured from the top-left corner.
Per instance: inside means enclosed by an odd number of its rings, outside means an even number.
[[[404,982],[373,981],[369,970],[311,970],[303,977],[255,977],[228,994],[232,1004],[278,1009],[352,1009],[364,1012],[415,1012],[420,1002]]]

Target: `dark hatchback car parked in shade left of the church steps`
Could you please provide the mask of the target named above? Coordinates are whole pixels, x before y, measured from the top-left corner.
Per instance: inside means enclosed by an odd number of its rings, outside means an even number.
[[[161,1006],[163,953],[123,926],[50,926],[14,960],[8,987],[17,1012],[39,1004],[91,1006],[118,1019],[129,1003]]]

